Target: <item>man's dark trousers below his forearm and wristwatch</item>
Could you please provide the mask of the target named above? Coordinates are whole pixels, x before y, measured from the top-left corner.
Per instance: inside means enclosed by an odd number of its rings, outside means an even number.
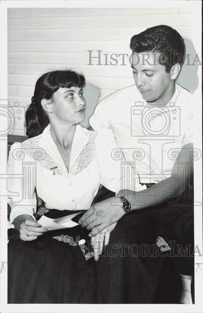
[[[100,189],[94,202],[113,196]],[[156,245],[161,236],[171,250]],[[163,261],[171,258],[178,272],[194,272],[194,210],[192,202],[179,201],[132,211],[111,232],[109,244],[97,262],[97,303],[153,303]]]

